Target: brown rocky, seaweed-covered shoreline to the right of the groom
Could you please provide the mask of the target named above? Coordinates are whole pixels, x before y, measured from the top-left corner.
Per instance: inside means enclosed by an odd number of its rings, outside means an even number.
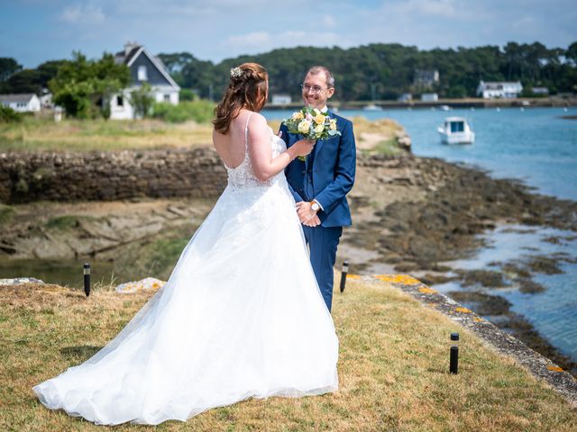
[[[480,234],[502,224],[575,232],[577,202],[533,193],[515,180],[493,179],[480,169],[435,158],[361,157],[359,175],[359,187],[351,193],[354,225],[345,230],[339,249],[340,257],[350,258],[352,272],[408,273],[429,285],[457,282],[467,289],[448,293],[454,300],[471,304],[474,311],[490,316],[501,329],[577,376],[577,363],[527,319],[510,311],[511,304],[499,295],[502,287],[539,293],[545,287],[533,281],[534,275],[560,273],[560,263],[575,264],[577,257],[560,254],[491,263],[497,270],[455,272],[446,265],[472,257],[486,246]]]

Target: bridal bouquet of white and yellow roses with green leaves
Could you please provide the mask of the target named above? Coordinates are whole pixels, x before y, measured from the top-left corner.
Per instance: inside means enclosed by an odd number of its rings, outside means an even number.
[[[318,108],[305,106],[298,112],[293,112],[289,119],[282,121],[289,129],[289,133],[296,133],[305,139],[329,139],[341,132],[336,130],[336,119],[331,119]],[[306,156],[299,156],[300,160],[307,160]]]

